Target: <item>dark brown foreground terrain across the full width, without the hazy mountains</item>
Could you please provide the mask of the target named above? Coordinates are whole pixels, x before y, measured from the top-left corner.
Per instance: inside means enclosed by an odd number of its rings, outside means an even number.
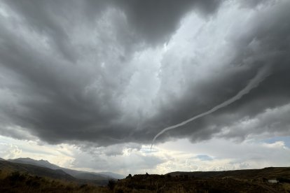
[[[129,175],[106,186],[2,169],[0,192],[290,192],[290,168]]]

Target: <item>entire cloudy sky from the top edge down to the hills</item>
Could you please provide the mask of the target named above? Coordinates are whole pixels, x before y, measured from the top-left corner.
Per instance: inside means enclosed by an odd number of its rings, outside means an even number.
[[[289,8],[1,0],[0,157],[125,176],[289,166]]]

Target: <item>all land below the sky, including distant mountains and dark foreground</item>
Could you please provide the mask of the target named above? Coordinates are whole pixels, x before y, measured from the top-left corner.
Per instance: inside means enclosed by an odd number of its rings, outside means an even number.
[[[0,159],[0,192],[290,192],[290,168],[136,174],[65,169],[46,160]]]

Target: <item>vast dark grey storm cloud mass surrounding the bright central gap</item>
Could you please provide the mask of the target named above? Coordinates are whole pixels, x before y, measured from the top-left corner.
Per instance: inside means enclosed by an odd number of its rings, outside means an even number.
[[[168,82],[172,71],[166,73],[174,62],[170,55],[163,56],[160,88],[158,96],[150,98],[154,108],[148,108],[149,113],[144,113],[147,103],[140,99],[146,101],[149,95],[150,90],[144,89],[150,86],[149,80],[132,86],[136,77],[142,78],[140,71],[147,70],[134,63],[138,52],[169,41],[186,13],[198,11],[204,18],[216,13],[220,4],[201,0],[5,1],[0,12],[1,134],[20,138],[15,131],[27,131],[48,143],[150,143],[161,129],[235,95],[267,64],[272,66],[271,76],[240,101],[159,140],[247,135],[222,134],[223,128],[236,127],[244,117],[263,116],[265,109],[289,103],[287,2],[269,8],[271,13],[256,15],[244,34],[230,36],[236,54],[227,68],[202,82],[189,81],[179,97],[171,93]],[[194,61],[185,62],[190,72]],[[191,79],[190,73],[185,75]],[[260,125],[270,124],[264,123]],[[286,131],[288,122],[281,120],[282,124],[279,129]],[[13,131],[8,134],[9,129]]]

